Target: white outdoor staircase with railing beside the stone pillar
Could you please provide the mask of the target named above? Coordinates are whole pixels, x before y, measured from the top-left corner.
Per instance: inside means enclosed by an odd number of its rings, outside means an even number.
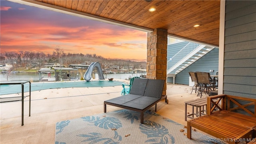
[[[193,64],[196,60],[210,52],[214,47],[205,46],[196,43],[188,43],[182,50],[175,54],[167,62],[167,77],[174,77]]]

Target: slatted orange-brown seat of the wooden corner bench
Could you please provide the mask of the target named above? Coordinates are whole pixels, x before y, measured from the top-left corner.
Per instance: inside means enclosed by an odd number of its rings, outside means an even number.
[[[192,127],[207,130],[213,136],[219,134],[218,136],[226,138],[237,138],[256,126],[256,118],[228,110],[219,110],[189,122]]]

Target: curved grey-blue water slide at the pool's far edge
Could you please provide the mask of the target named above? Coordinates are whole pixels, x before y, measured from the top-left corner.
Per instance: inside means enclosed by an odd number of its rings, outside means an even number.
[[[90,81],[93,69],[97,68],[98,76],[100,80],[105,80],[100,63],[99,62],[92,62],[90,66],[88,67],[87,71],[84,74],[84,80]]]

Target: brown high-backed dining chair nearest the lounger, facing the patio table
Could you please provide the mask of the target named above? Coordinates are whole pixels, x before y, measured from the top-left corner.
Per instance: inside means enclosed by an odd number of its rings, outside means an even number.
[[[210,96],[210,91],[212,91],[211,86],[214,84],[210,77],[209,72],[196,72],[196,79],[199,84],[199,90],[197,96],[200,95],[202,98],[202,93],[208,94]]]

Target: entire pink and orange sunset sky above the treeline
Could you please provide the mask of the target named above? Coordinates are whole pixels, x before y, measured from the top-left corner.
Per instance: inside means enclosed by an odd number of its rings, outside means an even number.
[[[0,0],[0,52],[96,54],[104,58],[146,61],[147,33]]]

